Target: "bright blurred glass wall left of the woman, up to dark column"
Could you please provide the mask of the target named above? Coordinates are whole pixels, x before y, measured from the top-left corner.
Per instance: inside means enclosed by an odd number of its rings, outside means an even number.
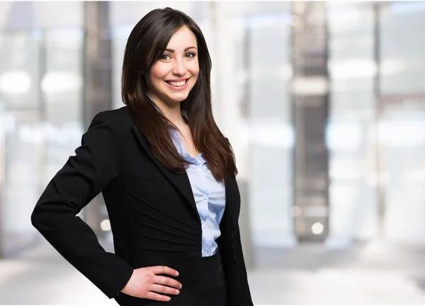
[[[30,213],[81,143],[82,8],[81,2],[0,3],[3,249],[33,244]]]

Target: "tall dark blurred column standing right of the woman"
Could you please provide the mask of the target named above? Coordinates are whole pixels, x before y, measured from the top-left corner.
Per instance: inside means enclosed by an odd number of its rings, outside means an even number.
[[[293,115],[295,233],[323,242],[328,233],[329,176],[327,23],[324,2],[293,3]]]

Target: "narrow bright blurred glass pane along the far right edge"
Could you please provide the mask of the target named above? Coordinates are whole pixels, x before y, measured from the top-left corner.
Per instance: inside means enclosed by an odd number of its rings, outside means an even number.
[[[380,16],[380,170],[385,237],[425,242],[424,2],[394,2]]]

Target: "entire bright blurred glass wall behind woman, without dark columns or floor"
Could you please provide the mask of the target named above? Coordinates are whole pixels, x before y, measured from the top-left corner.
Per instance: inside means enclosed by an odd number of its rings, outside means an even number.
[[[293,2],[111,1],[113,108],[130,30],[171,6],[200,25],[215,118],[232,142],[246,244],[291,248],[294,230]],[[327,246],[425,242],[424,2],[330,2]],[[0,3],[1,245],[31,246],[32,212],[79,145],[84,3]],[[299,16],[302,18],[302,16]],[[90,103],[88,101],[87,103]],[[312,229],[312,234],[314,231]]]

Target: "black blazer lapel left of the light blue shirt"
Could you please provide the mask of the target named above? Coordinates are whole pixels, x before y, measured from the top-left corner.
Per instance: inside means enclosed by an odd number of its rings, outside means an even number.
[[[154,154],[152,154],[152,150],[150,149],[147,140],[145,139],[145,135],[142,135],[139,128],[137,128],[137,125],[132,126],[132,132],[134,133],[137,140],[140,142],[140,145],[142,145],[143,149],[145,149],[147,155],[152,159],[155,165],[157,165],[158,169],[164,174],[166,179],[170,181],[179,191],[180,193],[188,200],[188,203],[193,208],[194,212],[196,212],[196,215],[199,217],[198,214],[198,208],[196,208],[195,198],[193,198],[193,192],[191,188],[191,182],[189,181],[188,175],[186,172],[183,174],[175,174],[168,169],[166,169],[156,157],[154,157]]]

